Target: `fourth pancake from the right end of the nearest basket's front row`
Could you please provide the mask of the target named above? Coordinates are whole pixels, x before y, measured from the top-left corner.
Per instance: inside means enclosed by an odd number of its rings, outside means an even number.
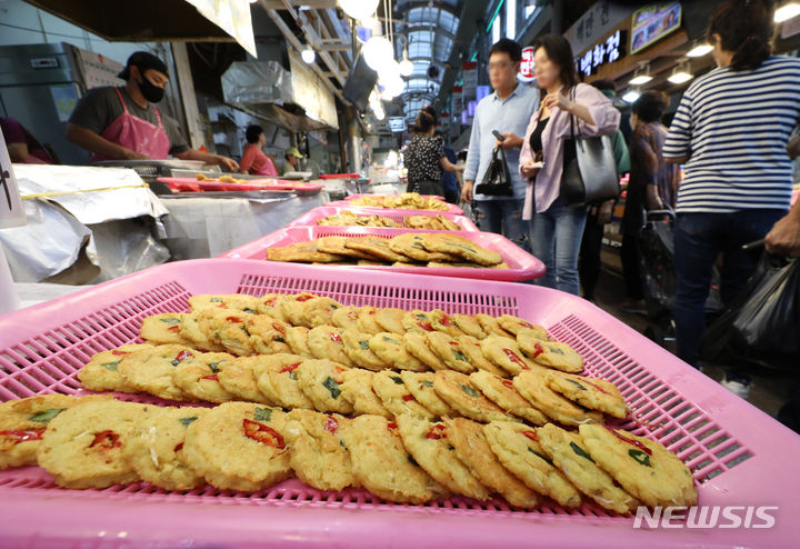
[[[514,507],[531,509],[539,505],[537,492],[508,472],[491,451],[481,423],[464,418],[444,418],[443,421],[447,441],[453,447],[456,457],[483,486]]]

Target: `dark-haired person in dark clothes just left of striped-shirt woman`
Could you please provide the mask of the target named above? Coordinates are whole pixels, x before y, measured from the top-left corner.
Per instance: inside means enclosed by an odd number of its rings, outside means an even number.
[[[646,91],[631,106],[630,160],[626,209],[622,217],[622,276],[626,300],[622,310],[644,313],[644,288],[640,269],[639,232],[644,210],[674,209],[680,183],[678,166],[664,160],[668,130],[661,123],[669,100],[660,91]]]

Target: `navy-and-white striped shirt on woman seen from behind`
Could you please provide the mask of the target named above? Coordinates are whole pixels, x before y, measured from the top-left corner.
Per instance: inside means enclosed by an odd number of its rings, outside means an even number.
[[[681,99],[664,158],[689,157],[678,212],[789,208],[787,143],[800,117],[800,59],[772,56],[753,71],[721,67]]]

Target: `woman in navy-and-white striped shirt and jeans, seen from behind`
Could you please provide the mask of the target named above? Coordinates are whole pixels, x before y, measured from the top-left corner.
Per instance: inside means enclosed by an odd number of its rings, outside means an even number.
[[[717,257],[724,254],[720,292],[728,305],[758,260],[742,244],[764,238],[791,198],[787,143],[800,117],[800,60],[771,54],[772,9],[766,0],[717,9],[707,37],[719,67],[683,94],[663,148],[668,161],[686,164],[673,315],[678,356],[694,367]]]

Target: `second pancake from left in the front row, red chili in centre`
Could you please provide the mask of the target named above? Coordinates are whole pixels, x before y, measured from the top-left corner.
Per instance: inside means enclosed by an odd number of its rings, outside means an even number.
[[[37,453],[62,488],[107,488],[139,480],[122,447],[132,429],[158,407],[92,400],[72,407],[48,425]]]

